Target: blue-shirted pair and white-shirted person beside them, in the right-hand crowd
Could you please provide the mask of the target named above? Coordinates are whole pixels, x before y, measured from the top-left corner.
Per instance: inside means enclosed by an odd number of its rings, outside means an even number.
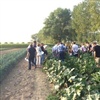
[[[68,44],[64,44],[62,42],[57,42],[53,47],[52,47],[52,54],[55,58],[58,58],[61,61],[64,61],[66,57],[66,52],[70,56],[75,56],[78,57],[79,54],[79,46],[76,44],[76,42],[72,42],[70,46]]]

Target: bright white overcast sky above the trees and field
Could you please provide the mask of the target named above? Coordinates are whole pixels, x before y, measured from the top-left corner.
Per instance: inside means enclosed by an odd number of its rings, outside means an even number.
[[[57,8],[73,7],[83,0],[0,0],[0,42],[30,42],[44,20]]]

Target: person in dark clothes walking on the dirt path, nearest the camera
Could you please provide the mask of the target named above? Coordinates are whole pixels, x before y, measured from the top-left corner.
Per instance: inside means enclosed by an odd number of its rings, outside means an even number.
[[[28,53],[27,53],[27,56],[28,56],[28,59],[29,59],[29,68],[28,68],[29,70],[31,70],[32,64],[34,64],[35,68],[36,68],[36,64],[34,62],[35,54],[36,54],[36,50],[33,47],[33,45],[31,44],[30,48],[28,49]]]

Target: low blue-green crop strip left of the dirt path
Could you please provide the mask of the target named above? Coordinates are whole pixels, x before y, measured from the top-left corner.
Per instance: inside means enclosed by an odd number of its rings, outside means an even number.
[[[26,48],[2,48],[0,51],[0,82],[26,54]]]

